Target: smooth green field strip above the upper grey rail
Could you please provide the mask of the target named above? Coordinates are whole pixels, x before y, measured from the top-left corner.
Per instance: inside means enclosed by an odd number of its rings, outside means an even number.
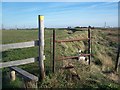
[[[3,30],[2,43],[18,43],[24,41],[36,40],[38,37],[37,30]]]

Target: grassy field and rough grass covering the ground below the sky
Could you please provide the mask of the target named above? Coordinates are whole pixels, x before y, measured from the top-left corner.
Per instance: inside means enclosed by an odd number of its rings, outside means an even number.
[[[67,30],[57,30],[57,39],[85,38],[86,31],[76,31],[68,34]],[[56,61],[56,72],[52,73],[52,60],[50,56],[50,36],[52,30],[45,30],[45,80],[40,83],[39,88],[62,87],[62,88],[120,88],[119,73],[114,73],[114,65],[116,60],[116,51],[118,44],[118,30],[102,30],[93,29],[92,32],[92,61],[91,65],[81,64],[76,60]],[[37,30],[3,30],[2,44],[18,43],[32,41],[38,39]],[[87,42],[69,42],[56,45],[56,57],[76,55],[77,49],[81,48],[87,53]],[[15,49],[2,52],[2,61],[12,61],[38,56],[38,47]],[[60,69],[62,65],[69,63],[75,66],[72,70]],[[38,63],[19,66],[26,71],[38,76]],[[32,68],[32,69],[31,69]],[[3,69],[3,88],[5,87],[22,87],[22,79],[17,78],[16,81],[10,82],[8,69]],[[79,75],[79,78],[73,77],[73,72]],[[8,80],[9,82],[6,82]]]

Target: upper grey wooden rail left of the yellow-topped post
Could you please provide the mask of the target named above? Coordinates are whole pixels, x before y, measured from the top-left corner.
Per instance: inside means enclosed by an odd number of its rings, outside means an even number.
[[[37,45],[38,45],[38,41],[29,41],[29,42],[21,42],[21,43],[13,43],[13,44],[3,44],[2,51],[6,51],[9,49],[16,49],[16,48],[34,47]]]

